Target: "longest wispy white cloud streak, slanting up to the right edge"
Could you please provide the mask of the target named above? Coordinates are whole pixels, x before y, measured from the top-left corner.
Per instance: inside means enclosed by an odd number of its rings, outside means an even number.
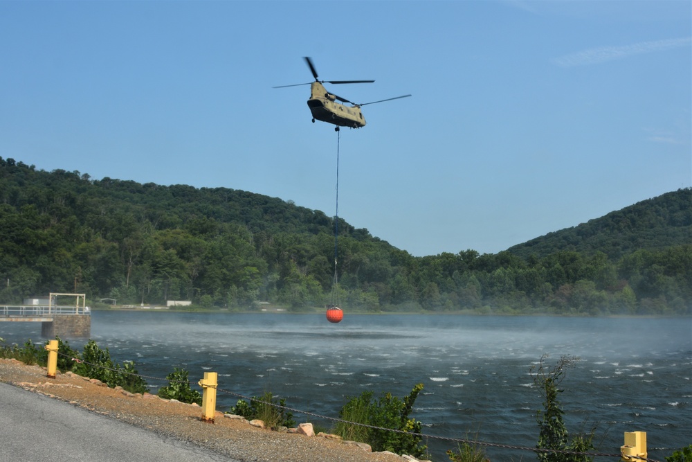
[[[590,64],[600,64],[612,60],[641,55],[642,53],[653,53],[654,51],[670,50],[689,46],[692,42],[690,37],[682,39],[657,40],[655,42],[640,42],[625,46],[599,46],[588,50],[578,51],[570,55],[558,57],[553,60],[555,64],[562,67],[589,66]]]

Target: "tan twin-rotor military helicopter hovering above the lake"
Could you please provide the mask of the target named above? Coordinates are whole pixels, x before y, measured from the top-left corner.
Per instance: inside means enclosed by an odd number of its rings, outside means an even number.
[[[322,121],[336,125],[334,130],[339,131],[339,127],[351,127],[351,128],[361,128],[365,127],[365,117],[363,117],[363,112],[361,111],[361,106],[372,105],[374,103],[383,103],[384,101],[398,100],[399,98],[408,98],[411,95],[395,96],[394,98],[387,98],[385,100],[372,101],[370,103],[354,103],[346,98],[341,98],[333,93],[329,93],[325,88],[323,83],[330,83],[333,85],[343,84],[343,83],[372,83],[374,80],[320,80],[318,73],[315,69],[315,65],[312,60],[305,56],[305,62],[307,62],[313,77],[314,82],[298,83],[294,85],[281,85],[280,87],[274,88],[286,88],[286,87],[298,87],[300,85],[310,85],[310,99],[307,100],[307,105],[312,112],[312,122]],[[340,102],[340,103],[339,103]],[[351,106],[343,105],[341,103],[348,103]]]

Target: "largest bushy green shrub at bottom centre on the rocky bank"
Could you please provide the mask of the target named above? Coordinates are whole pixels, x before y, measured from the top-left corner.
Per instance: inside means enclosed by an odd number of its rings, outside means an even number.
[[[408,416],[422,389],[423,384],[417,384],[403,400],[391,393],[384,393],[379,400],[373,400],[372,391],[364,391],[361,396],[351,398],[344,405],[339,417],[379,428],[338,423],[334,433],[345,439],[354,438],[354,441],[367,443],[373,451],[390,451],[421,458],[426,455],[427,449],[420,435],[422,424]]]

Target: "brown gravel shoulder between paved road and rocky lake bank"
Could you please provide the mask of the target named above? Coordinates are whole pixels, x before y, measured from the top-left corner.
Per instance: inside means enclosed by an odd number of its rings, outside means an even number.
[[[89,382],[71,373],[46,377],[46,369],[26,366],[15,359],[0,359],[0,382],[69,402],[110,418],[169,438],[205,447],[244,462],[403,462],[409,456],[369,452],[363,447],[322,436],[273,432],[217,412],[215,423],[201,420],[201,407],[158,396],[131,395]]]

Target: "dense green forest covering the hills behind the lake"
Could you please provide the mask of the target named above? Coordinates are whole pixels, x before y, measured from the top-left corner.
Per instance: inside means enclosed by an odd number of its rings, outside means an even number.
[[[582,238],[603,249],[539,239],[531,253],[420,258],[339,219],[340,300],[372,312],[692,314],[692,190],[651,201],[609,218],[641,230],[639,245],[631,238],[616,253],[621,235],[603,224]],[[566,231],[584,236],[581,226]],[[0,303],[78,292],[92,302],[304,310],[329,302],[334,219],[241,190],[93,180],[0,158],[0,277]]]

